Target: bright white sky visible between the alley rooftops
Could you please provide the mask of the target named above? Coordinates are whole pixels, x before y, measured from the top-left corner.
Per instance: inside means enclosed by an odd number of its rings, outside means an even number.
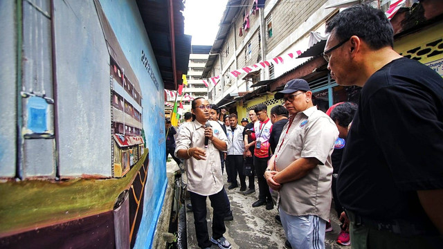
[[[228,0],[186,0],[183,11],[185,34],[192,35],[192,45],[214,44],[227,2]]]

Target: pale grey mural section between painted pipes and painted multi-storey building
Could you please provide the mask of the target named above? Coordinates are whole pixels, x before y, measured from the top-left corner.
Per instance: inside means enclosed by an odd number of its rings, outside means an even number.
[[[109,53],[93,1],[54,1],[60,176],[111,176]]]

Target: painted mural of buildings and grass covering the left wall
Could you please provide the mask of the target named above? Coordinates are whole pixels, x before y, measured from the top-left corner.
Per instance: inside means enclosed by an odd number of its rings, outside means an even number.
[[[0,23],[0,247],[150,248],[164,91],[136,2],[0,1]]]

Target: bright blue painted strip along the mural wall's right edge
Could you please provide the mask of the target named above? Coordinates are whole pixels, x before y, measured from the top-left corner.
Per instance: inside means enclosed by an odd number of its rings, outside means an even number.
[[[150,163],[145,185],[143,218],[134,248],[150,248],[167,185],[163,81],[136,2],[102,0],[100,3],[141,86],[143,129],[146,145],[150,150]],[[142,50],[159,82],[158,89],[142,64]]]

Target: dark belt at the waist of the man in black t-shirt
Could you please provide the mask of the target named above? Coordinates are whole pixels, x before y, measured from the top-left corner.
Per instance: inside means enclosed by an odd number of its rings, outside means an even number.
[[[429,230],[423,228],[420,225],[411,223],[410,221],[402,219],[394,219],[391,221],[375,221],[366,217],[355,214],[350,210],[345,210],[347,218],[356,227],[364,226],[366,228],[372,228],[379,231],[392,232],[402,236],[415,236],[422,234],[429,234]]]

